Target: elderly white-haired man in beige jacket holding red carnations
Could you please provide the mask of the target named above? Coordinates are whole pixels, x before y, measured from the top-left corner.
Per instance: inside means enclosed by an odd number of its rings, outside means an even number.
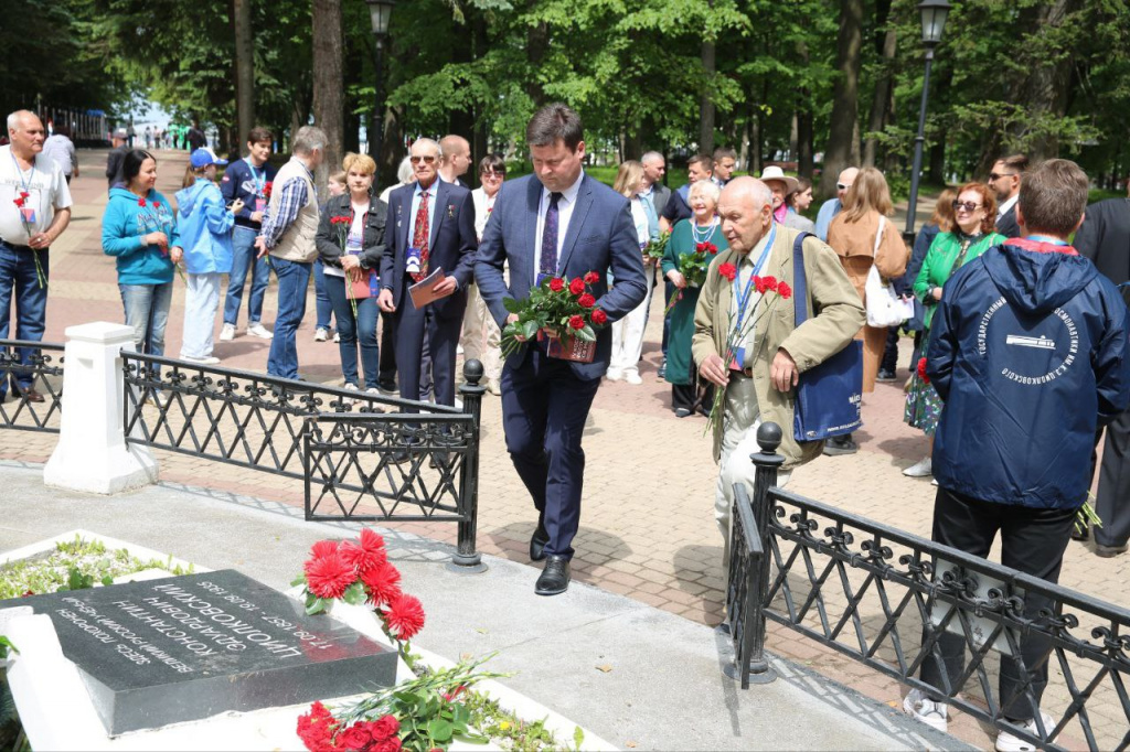
[[[793,287],[792,250],[799,233],[774,221],[773,193],[765,183],[736,178],[722,190],[718,213],[730,248],[718,255],[706,273],[695,309],[692,351],[703,378],[725,390],[725,414],[714,430],[714,458],[720,466],[714,517],[727,542],[728,561],[733,484],[744,482],[753,490],[749,455],[758,451],[757,427],[762,421],[781,426],[784,466],[777,484],[784,486],[792,469],[818,456],[824,446],[823,441],[798,441],[792,435],[798,379],[846,347],[867,314],[840,259],[815,236],[803,246],[809,316],[803,324],[796,325],[792,300],[768,295],[763,301],[748,285],[758,274]],[[737,269],[733,282],[719,273],[723,264]],[[737,309],[739,296],[746,298],[741,312]],[[730,330],[750,316],[756,323],[745,343],[744,362],[723,362]]]

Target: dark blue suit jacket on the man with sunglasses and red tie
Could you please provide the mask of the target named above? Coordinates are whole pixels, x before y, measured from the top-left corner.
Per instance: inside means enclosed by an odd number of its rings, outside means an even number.
[[[432,303],[432,309],[441,318],[462,318],[467,308],[467,286],[475,278],[475,252],[478,241],[475,235],[475,202],[471,192],[464,187],[436,178],[435,215],[428,228],[428,270],[442,268],[445,277],[454,277],[459,289]],[[392,289],[392,301],[412,305],[407,296],[405,254],[411,245],[416,218],[412,212],[412,193],[416,183],[402,185],[389,194],[389,220],[385,244],[389,251],[381,256],[381,287]]]

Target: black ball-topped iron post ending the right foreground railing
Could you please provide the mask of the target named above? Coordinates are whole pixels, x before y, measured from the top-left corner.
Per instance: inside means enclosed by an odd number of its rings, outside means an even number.
[[[750,583],[753,591],[754,611],[750,627],[753,635],[753,649],[749,657],[749,673],[753,676],[762,674],[758,683],[764,683],[775,679],[773,670],[770,668],[768,659],[765,657],[765,603],[770,587],[770,516],[773,514],[773,505],[770,500],[770,489],[776,486],[777,471],[784,464],[784,457],[776,453],[781,446],[781,427],[773,422],[762,423],[757,428],[757,446],[760,452],[749,455],[754,466],[757,469],[754,476],[754,498],[751,499],[754,522],[757,523],[757,534],[760,536],[762,554],[754,565],[754,578]],[[757,681],[751,677],[751,681]]]

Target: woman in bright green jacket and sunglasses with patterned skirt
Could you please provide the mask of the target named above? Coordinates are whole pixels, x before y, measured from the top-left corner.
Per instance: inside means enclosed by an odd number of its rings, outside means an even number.
[[[994,231],[997,200],[983,183],[967,183],[962,186],[957,192],[957,200],[954,201],[954,229],[939,233],[933,239],[918,279],[914,280],[914,297],[922,301],[924,311],[922,352],[929,350],[930,323],[933,321],[933,312],[941,300],[946,282],[963,265],[1006,239],[1003,235]],[[911,376],[903,420],[913,428],[921,428],[930,437],[930,452],[903,471],[904,475],[911,478],[925,478],[933,473],[933,434],[941,416],[941,399],[938,392],[919,373],[921,369]]]

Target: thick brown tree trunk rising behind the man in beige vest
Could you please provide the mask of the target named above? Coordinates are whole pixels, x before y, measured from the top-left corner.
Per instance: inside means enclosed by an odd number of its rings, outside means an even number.
[[[325,131],[325,159],[318,170],[318,184],[325,185],[329,172],[340,169],[345,138],[342,114],[341,0],[313,0],[314,124]]]

